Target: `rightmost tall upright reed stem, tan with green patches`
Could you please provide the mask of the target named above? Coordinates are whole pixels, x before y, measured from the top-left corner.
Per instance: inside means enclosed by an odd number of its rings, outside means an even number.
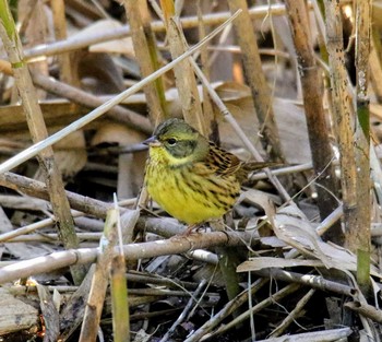
[[[370,179],[370,111],[369,111],[369,56],[371,1],[359,1],[356,8],[356,82],[357,123],[355,153],[357,166],[357,207],[354,215],[356,225],[349,226],[346,246],[357,250],[357,281],[365,295],[371,295],[370,282],[370,225],[371,225],[371,179]]]

